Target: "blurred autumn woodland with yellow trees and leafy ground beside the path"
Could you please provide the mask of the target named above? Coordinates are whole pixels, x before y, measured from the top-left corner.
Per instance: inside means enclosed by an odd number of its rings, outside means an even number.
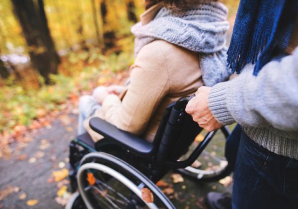
[[[224,3],[232,25],[239,0]],[[143,0],[0,0],[0,138],[123,84],[143,11]]]

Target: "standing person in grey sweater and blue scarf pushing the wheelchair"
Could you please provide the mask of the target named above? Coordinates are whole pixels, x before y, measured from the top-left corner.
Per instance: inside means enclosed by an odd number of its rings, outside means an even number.
[[[227,52],[240,75],[199,88],[186,107],[208,131],[234,122],[242,127],[233,209],[298,208],[297,46],[297,0],[241,0]],[[231,207],[215,193],[208,203]]]

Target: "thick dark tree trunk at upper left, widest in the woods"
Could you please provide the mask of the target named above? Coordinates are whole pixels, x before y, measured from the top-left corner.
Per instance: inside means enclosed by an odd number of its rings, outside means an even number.
[[[25,37],[32,66],[50,84],[49,74],[57,73],[59,56],[48,27],[43,0],[11,0]]]

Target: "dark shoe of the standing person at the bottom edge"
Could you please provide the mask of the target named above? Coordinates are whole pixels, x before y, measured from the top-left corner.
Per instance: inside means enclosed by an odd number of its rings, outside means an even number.
[[[232,199],[228,193],[210,192],[206,198],[209,209],[231,209]]]

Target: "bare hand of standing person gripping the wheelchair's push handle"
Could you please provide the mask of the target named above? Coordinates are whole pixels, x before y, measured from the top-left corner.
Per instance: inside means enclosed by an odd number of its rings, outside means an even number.
[[[196,92],[196,96],[188,102],[185,108],[185,111],[192,116],[193,120],[207,131],[213,131],[223,126],[215,119],[208,107],[210,90],[210,87],[200,87]]]

